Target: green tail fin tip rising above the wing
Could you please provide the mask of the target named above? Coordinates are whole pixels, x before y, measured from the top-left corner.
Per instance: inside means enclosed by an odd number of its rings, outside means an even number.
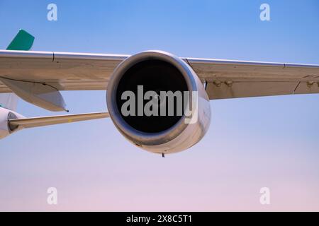
[[[30,50],[33,45],[34,37],[25,30],[19,30],[18,34],[7,47],[7,50]]]

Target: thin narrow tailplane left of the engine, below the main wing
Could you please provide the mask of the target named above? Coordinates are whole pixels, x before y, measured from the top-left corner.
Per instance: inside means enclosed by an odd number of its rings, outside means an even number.
[[[9,119],[9,126],[15,129],[27,129],[39,126],[49,126],[64,124],[75,121],[86,121],[91,119],[103,119],[109,117],[108,112],[88,113],[88,114],[69,114],[50,117],[36,117],[23,119]]]

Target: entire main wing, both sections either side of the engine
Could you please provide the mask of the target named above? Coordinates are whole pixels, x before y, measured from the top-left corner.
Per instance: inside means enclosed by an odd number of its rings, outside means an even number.
[[[0,50],[0,93],[6,82],[49,85],[52,90],[106,90],[128,55]],[[211,100],[319,93],[319,65],[182,58],[206,83]]]

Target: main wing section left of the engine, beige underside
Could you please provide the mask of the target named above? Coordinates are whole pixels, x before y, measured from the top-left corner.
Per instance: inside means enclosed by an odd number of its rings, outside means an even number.
[[[56,90],[106,90],[128,55],[0,50],[0,78],[45,83]],[[0,93],[11,90],[0,83]]]

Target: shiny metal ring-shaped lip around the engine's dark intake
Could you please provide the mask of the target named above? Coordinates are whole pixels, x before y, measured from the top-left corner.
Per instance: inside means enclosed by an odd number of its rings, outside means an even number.
[[[132,57],[128,57],[128,59],[122,61],[121,64],[119,64],[113,71],[111,79],[108,83],[106,96],[108,112],[110,113],[111,119],[116,125],[117,129],[130,141],[141,145],[159,145],[162,143],[167,143],[179,136],[179,134],[187,127],[187,124],[184,123],[185,115],[183,115],[179,121],[174,124],[174,126],[167,130],[157,133],[146,133],[134,129],[121,117],[121,113],[118,110],[116,102],[116,90],[118,88],[118,83],[121,81],[121,78],[125,72],[130,69],[130,67],[140,63],[141,61],[154,59],[165,61],[169,64],[172,64],[172,66],[175,66],[184,77],[188,90],[197,91],[196,82],[192,76],[194,75],[194,71],[188,64],[186,64],[185,61],[174,56],[173,54],[158,50],[150,50],[146,52],[140,52],[139,54],[135,54]],[[190,98],[192,98],[191,95]]]

